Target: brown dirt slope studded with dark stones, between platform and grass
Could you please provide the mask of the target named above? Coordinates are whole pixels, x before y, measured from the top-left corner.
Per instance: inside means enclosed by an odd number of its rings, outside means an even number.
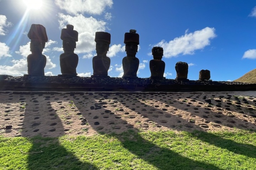
[[[0,135],[256,129],[256,91],[0,92]]]

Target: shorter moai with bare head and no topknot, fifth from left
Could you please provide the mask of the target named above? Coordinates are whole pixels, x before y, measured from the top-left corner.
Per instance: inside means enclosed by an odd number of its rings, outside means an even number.
[[[153,60],[149,62],[149,68],[151,72],[151,79],[164,79],[165,63],[162,61],[164,50],[162,47],[152,48]]]

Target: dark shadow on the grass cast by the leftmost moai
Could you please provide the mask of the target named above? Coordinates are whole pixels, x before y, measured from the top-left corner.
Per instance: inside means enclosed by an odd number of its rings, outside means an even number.
[[[33,146],[28,154],[28,168],[31,170],[68,169],[97,170],[88,162],[82,162],[76,156],[60,145],[58,138],[33,137]],[[42,150],[40,153],[32,153]]]

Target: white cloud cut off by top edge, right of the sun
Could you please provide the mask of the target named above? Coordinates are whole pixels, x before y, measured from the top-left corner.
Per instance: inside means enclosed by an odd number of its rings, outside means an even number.
[[[69,14],[89,13],[100,15],[106,7],[111,8],[112,0],[55,0],[60,9]]]

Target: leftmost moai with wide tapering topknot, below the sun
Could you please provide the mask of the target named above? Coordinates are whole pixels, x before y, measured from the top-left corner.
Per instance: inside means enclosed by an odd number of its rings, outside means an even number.
[[[42,54],[45,42],[48,41],[45,27],[40,24],[32,24],[28,32],[31,54],[27,57],[28,75],[44,76],[46,56]]]

